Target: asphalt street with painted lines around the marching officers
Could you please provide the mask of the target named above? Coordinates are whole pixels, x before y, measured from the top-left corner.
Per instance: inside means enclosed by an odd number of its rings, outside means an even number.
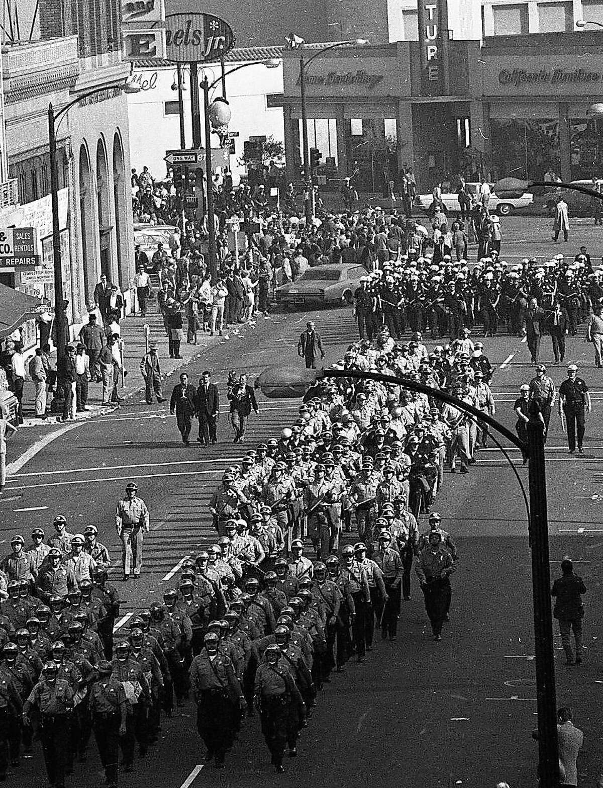
[[[573,256],[579,243],[584,243],[596,262],[594,250],[601,229],[592,229],[592,220],[575,222],[568,244],[546,243],[550,225],[548,218],[505,220],[501,257],[515,263],[566,248]],[[0,543],[6,552],[13,533],[23,533],[26,540],[33,526],[44,526],[49,533],[56,514],[65,515],[72,533],[94,522],[99,541],[111,551],[112,582],[117,582],[124,598],[122,626],[135,611],[161,599],[163,589],[172,578],[177,579],[183,556],[213,541],[209,495],[224,468],[238,462],[243,453],[244,447],[233,446],[228,423],[228,371],[244,370],[254,377],[272,363],[301,362],[296,347],[308,319],[322,333],[325,363],[341,358],[347,344],[357,338],[348,308],[273,314],[269,320],[258,318],[256,327],[242,329],[239,337],[208,348],[187,366],[193,381],[207,368],[220,386],[222,407],[215,447],[204,450],[195,442],[183,447],[168,403],[146,406],[139,396],[113,414],[82,422],[35,454],[34,445],[28,463],[9,478],[0,503]],[[579,364],[579,374],[593,396],[585,454],[568,455],[559,419],[553,414],[546,456],[552,577],[560,574],[560,560],[568,555],[588,588],[582,666],[565,666],[555,623],[557,701],[574,708],[575,723],[584,730],[579,772],[584,784],[594,785],[603,755],[603,712],[597,702],[603,686],[598,639],[603,619],[598,571],[603,547],[603,385],[599,370],[594,369],[592,348],[583,342],[584,329],[581,333],[568,339],[566,360]],[[486,340],[485,351],[497,367],[492,386],[497,418],[512,429],[512,404],[520,384],[533,375],[527,345],[518,337],[498,336]],[[548,337],[542,341],[541,360],[552,360]],[[565,377],[561,366],[550,366],[549,374],[557,385]],[[176,375],[170,380],[175,382]],[[168,393],[171,385],[166,385]],[[250,417],[248,446],[278,437],[298,407],[296,400],[271,401],[261,395],[258,403],[259,416]],[[13,443],[10,451],[18,445]],[[527,485],[520,453],[511,449],[509,455]],[[14,456],[9,455],[10,459]],[[142,579],[126,585],[119,580],[120,548],[113,512],[131,480],[138,483],[139,495],[150,509],[152,532],[145,540]],[[298,759],[285,764],[286,775],[273,774],[257,718],[245,721],[225,771],[212,766],[194,771],[203,764],[204,748],[189,704],[179,710],[182,714],[164,720],[160,741],[146,760],[137,762],[134,774],[120,775],[121,785],[152,781],[180,788],[189,775],[196,775],[193,786],[249,788],[276,784],[481,788],[503,779],[512,788],[534,784],[530,552],[523,499],[501,452],[481,450],[468,477],[446,473],[435,509],[442,515],[442,527],[457,541],[461,556],[453,575],[451,621],[441,643],[431,637],[422,594],[413,578],[412,600],[402,603],[398,641],[379,641],[364,664],[349,663],[345,674],[334,675],[302,733]],[[426,528],[422,522],[420,530]],[[68,784],[88,788],[102,781],[94,745],[90,753],[98,768],[90,760],[85,768],[77,765]],[[22,760],[17,776],[32,788],[46,786],[39,746],[33,759]]]

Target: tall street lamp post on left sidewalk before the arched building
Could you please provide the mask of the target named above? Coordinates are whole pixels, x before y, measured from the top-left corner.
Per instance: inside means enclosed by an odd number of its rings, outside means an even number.
[[[119,86],[124,93],[138,93],[139,84],[126,80]],[[65,355],[65,310],[63,309],[63,269],[61,262],[61,229],[58,215],[58,172],[57,172],[57,121],[83,99],[106,91],[106,86],[96,87],[68,102],[60,110],[55,111],[52,102],[48,105],[48,151],[50,159],[50,204],[52,209],[53,228],[53,270],[54,270],[54,325],[57,336],[57,360]],[[58,398],[57,398],[58,401]]]

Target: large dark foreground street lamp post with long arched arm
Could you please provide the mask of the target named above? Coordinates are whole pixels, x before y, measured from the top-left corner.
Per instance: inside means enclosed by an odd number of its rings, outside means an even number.
[[[406,377],[383,375],[363,370],[304,370],[300,367],[268,367],[255,383],[266,396],[302,396],[316,381],[344,377],[372,380],[408,388],[434,400],[448,403],[488,426],[511,444],[527,451],[530,504],[527,522],[530,533],[532,589],[534,599],[534,637],[536,696],[538,708],[538,775],[542,788],[559,788],[559,748],[557,744],[557,698],[553,654],[553,617],[550,605],[549,530],[546,504],[546,467],[542,421],[532,411],[527,425],[527,445],[489,414],[458,400],[448,392],[426,386]],[[512,466],[514,468],[514,466]],[[522,487],[523,489],[523,487]]]

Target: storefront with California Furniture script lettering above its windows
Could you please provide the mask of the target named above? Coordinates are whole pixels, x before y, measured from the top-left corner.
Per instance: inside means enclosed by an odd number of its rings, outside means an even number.
[[[603,98],[603,33],[486,39],[475,73],[493,177],[601,176],[603,120],[588,110]]]

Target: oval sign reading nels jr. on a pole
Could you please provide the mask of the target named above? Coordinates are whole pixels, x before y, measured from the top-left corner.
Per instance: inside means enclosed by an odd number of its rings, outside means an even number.
[[[170,13],[165,17],[165,46],[174,63],[215,63],[235,45],[228,22],[207,13]]]

